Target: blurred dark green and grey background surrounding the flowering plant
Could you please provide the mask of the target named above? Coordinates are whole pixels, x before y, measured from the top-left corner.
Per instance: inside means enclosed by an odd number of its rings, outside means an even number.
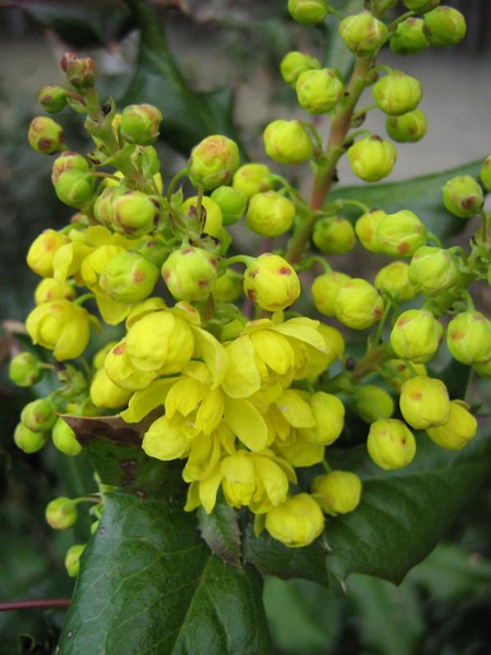
[[[333,4],[356,10],[361,0]],[[491,151],[491,2],[448,4],[468,20],[468,36],[458,48],[410,58],[381,55],[382,63],[421,80],[429,121],[421,143],[398,148],[391,180],[453,169]],[[58,61],[64,51],[94,57],[103,95],[113,95],[120,106],[148,102],[163,109],[158,148],[169,179],[192,144],[217,131],[237,138],[249,158],[265,160],[265,124],[301,116],[278,72],[291,49],[349,68],[335,22],[306,29],[289,19],[286,0],[0,2],[0,320],[25,319],[37,283],[25,264],[29,242],[70,217],[50,182],[52,160],[31,151],[26,140],[38,112],[35,94],[61,81]],[[384,134],[384,118],[372,114],[363,127]],[[63,112],[60,122],[70,147],[83,152],[79,118]],[[339,177],[342,184],[358,183],[346,163]],[[0,360],[11,347],[0,332]],[[91,468],[83,457],[75,465],[52,451],[26,456],[15,449],[13,429],[31,396],[5,376],[0,384],[0,602],[70,596],[62,556],[73,540],[86,539],[87,526],[77,524],[79,534],[53,533],[44,508],[55,496],[76,496],[89,485]],[[400,587],[361,575],[348,581],[346,593],[336,585],[327,592],[303,581],[268,579],[265,602],[276,652],[490,653],[490,498],[488,488]],[[52,653],[62,620],[61,610],[0,615],[0,655]]]

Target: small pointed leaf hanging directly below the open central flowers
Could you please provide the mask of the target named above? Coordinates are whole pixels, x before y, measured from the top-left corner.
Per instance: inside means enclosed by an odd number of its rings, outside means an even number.
[[[206,514],[204,509],[200,508],[197,519],[201,536],[211,551],[227,564],[240,567],[240,529],[236,510],[219,495],[213,512]]]

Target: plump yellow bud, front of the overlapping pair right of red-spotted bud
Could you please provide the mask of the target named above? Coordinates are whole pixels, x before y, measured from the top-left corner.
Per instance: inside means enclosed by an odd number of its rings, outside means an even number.
[[[380,321],[384,302],[379,291],[366,279],[347,282],[337,294],[336,318],[352,330],[366,330]]]

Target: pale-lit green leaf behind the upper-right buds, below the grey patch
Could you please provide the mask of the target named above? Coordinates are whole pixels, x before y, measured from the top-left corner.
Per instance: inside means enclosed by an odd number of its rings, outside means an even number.
[[[442,187],[457,175],[478,176],[481,165],[482,162],[475,162],[453,170],[426,175],[403,182],[336,189],[330,193],[328,201],[358,200],[370,209],[381,209],[387,213],[410,210],[421,218],[430,231],[439,238],[445,238],[465,229],[467,222],[456,218],[445,210]],[[348,210],[344,213],[351,216],[359,215]]]

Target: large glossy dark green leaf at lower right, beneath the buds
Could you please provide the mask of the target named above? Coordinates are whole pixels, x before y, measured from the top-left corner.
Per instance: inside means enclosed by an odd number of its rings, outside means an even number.
[[[332,572],[338,579],[368,573],[398,584],[479,490],[491,465],[490,424],[458,452],[420,434],[414,462],[399,471],[370,464],[364,446],[333,450],[330,463],[356,471],[363,481],[359,508],[326,526]]]

